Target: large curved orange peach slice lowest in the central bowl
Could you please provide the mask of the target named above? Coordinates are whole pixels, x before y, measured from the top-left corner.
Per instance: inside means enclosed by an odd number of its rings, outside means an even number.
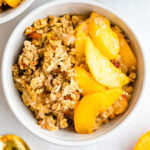
[[[109,89],[84,96],[74,110],[75,130],[92,133],[98,114],[104,113],[123,94],[121,89]]]

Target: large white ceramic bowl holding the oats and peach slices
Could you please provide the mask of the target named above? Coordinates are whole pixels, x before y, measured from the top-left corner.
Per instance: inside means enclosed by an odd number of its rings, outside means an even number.
[[[91,11],[96,11],[106,17],[109,20],[120,26],[126,33],[130,40],[131,47],[138,60],[138,70],[137,70],[137,80],[134,88],[134,93],[132,100],[130,101],[127,111],[118,116],[116,119],[110,121],[109,123],[103,125],[99,130],[89,135],[81,135],[69,130],[59,130],[57,132],[52,132],[48,130],[41,129],[33,117],[32,113],[23,104],[19,92],[14,87],[14,82],[12,78],[11,66],[16,62],[18,54],[23,46],[23,41],[25,40],[24,29],[27,26],[32,25],[33,21],[47,17],[48,15],[61,16],[63,14],[83,14],[89,13]],[[131,26],[124,21],[124,18],[120,17],[118,13],[114,12],[109,7],[95,1],[87,0],[61,0],[53,1],[43,6],[40,6],[30,14],[28,14],[15,28],[12,35],[10,36],[2,62],[2,82],[5,96],[7,98],[8,104],[12,109],[18,120],[32,133],[38,137],[65,146],[81,146],[86,144],[92,144],[98,141],[103,141],[113,135],[119,128],[125,125],[125,122],[132,118],[133,110],[136,110],[137,103],[141,101],[143,94],[143,86],[145,80],[145,57],[143,57],[142,48],[140,41],[131,29]],[[141,92],[142,91],[142,92]],[[139,99],[140,97],[140,99]],[[87,116],[88,117],[88,116]],[[114,137],[113,137],[114,138]]]

